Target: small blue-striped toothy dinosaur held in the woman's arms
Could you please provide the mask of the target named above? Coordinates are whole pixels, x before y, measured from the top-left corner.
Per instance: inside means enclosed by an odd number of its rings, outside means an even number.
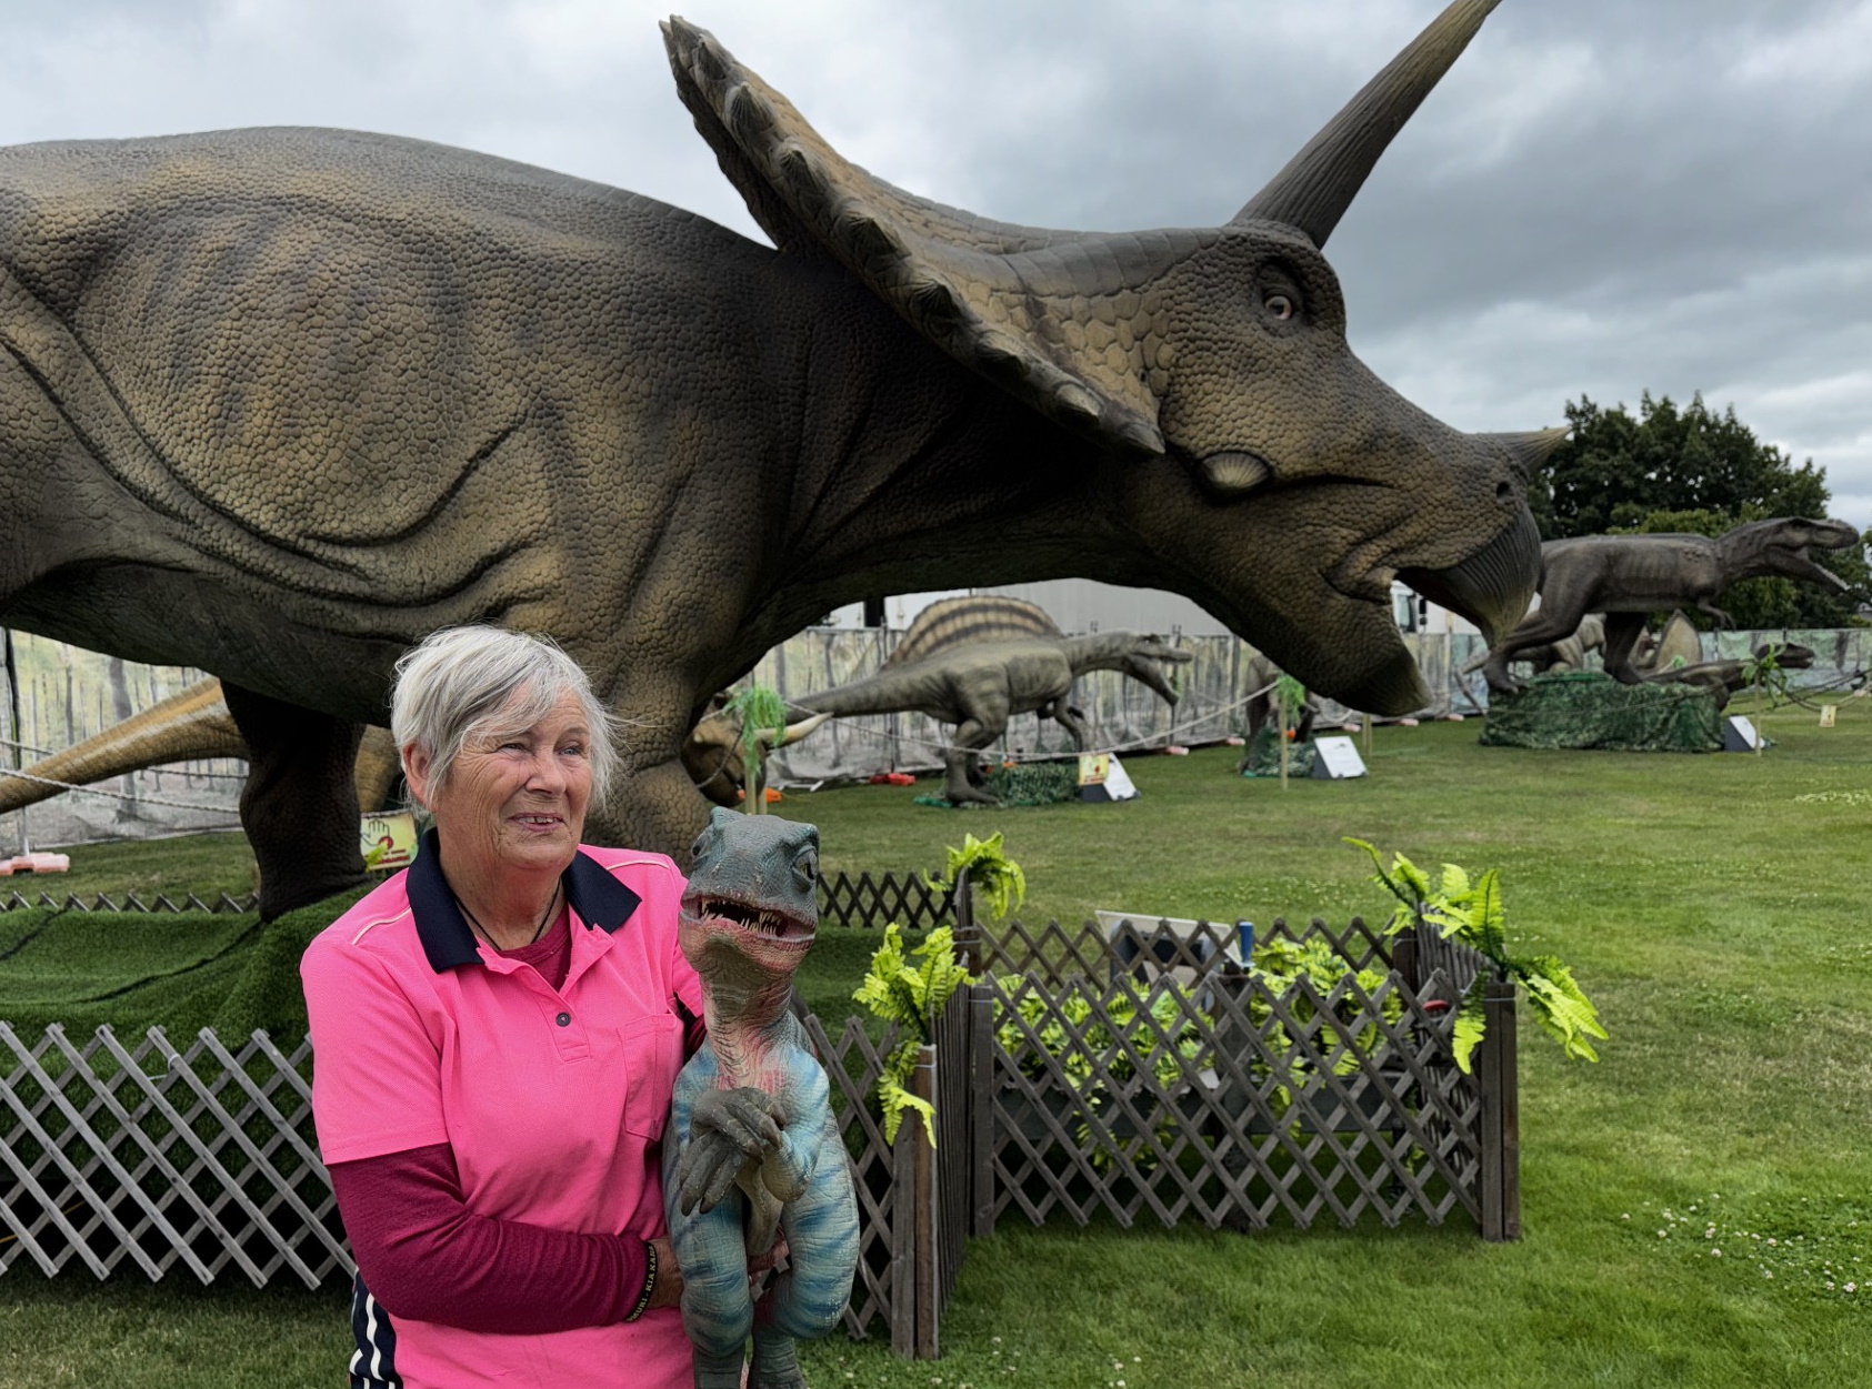
[[[683,1269],[696,1389],[803,1389],[797,1338],[839,1325],[857,1271],[857,1196],[831,1086],[788,1009],[818,928],[818,829],[715,809],[683,891],[681,949],[708,1041],[676,1078],[663,1200]],[[784,1230],[756,1303],[749,1258]]]

